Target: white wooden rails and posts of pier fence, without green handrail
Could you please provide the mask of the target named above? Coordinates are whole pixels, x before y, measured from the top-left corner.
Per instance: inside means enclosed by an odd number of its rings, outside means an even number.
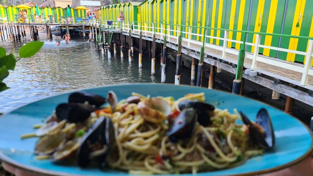
[[[125,24],[125,23],[127,23],[127,24]],[[187,47],[190,47],[191,44],[197,44],[200,46],[203,45],[203,39],[202,39],[202,41],[196,41],[196,40],[191,39],[192,36],[199,36],[199,38],[204,37],[204,35],[192,33],[192,28],[196,29],[197,27],[175,25],[175,26],[177,26],[177,29],[175,30],[175,29],[170,29],[170,24],[160,24],[159,25],[160,27],[157,27],[157,25],[153,24],[153,23],[152,23],[153,25],[150,25],[150,26],[147,25],[148,23],[145,23],[145,22],[136,22],[136,23],[138,23],[138,25],[134,25],[134,23],[132,23],[133,28],[134,28],[132,33],[139,34],[140,31],[144,35],[148,35],[148,34],[152,35],[153,33],[155,33],[155,34],[160,35],[161,39],[166,35],[167,41],[170,41],[171,38],[173,38],[173,39],[176,39],[177,43],[178,43],[179,33],[182,33],[182,36],[183,36],[182,41],[187,42]],[[123,22],[123,25],[121,28],[121,30],[123,32],[128,32],[130,28],[131,28],[131,24],[129,22],[127,22],[127,21]],[[180,30],[181,28],[185,28],[185,29],[187,28],[188,30],[187,30],[187,32],[182,31],[182,30]],[[155,30],[160,31],[160,32],[156,32]],[[214,30],[222,31],[224,29],[214,29]],[[173,34],[176,34],[176,35],[172,35],[171,32]],[[227,48],[227,43],[228,42],[234,42],[234,43],[243,44],[243,41],[228,39],[228,33],[229,33],[228,30],[224,30],[224,37],[223,38],[205,35],[205,38],[210,38],[210,39],[212,38],[212,39],[217,39],[217,40],[223,41],[223,46],[211,44],[211,43],[207,43],[207,42],[204,43],[204,46],[208,47],[208,48],[213,48],[213,49],[222,51],[221,59],[226,59],[226,53],[238,55],[239,50]],[[186,34],[187,34],[187,38],[186,38]],[[270,35],[270,34],[267,34],[267,35]],[[293,36],[293,37],[296,37],[296,36]],[[311,39],[308,40],[309,45],[308,45],[307,52],[301,52],[301,51],[296,51],[296,50],[291,50],[291,49],[261,45],[260,44],[261,38],[262,38],[262,35],[256,34],[256,40],[254,43],[245,42],[245,45],[249,45],[249,46],[254,47],[253,53],[249,53],[249,52],[245,53],[245,58],[252,60],[251,69],[257,69],[257,62],[266,63],[266,64],[273,65],[273,66],[280,67],[280,68],[285,68],[288,70],[302,73],[300,84],[303,86],[308,85],[309,75],[313,76],[313,70],[311,68],[312,56],[313,56],[312,55],[313,40],[311,40]],[[259,48],[267,48],[267,49],[272,49],[272,50],[276,50],[276,51],[282,51],[282,52],[304,55],[306,57],[304,67],[301,67],[297,64],[288,63],[288,62],[281,62],[277,59],[271,59],[269,57],[259,55]]]

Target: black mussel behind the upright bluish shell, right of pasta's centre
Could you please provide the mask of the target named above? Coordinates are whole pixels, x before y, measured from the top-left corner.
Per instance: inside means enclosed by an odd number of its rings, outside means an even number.
[[[197,109],[198,122],[204,127],[208,126],[211,123],[210,117],[212,116],[215,109],[214,106],[212,106],[211,104],[196,100],[183,100],[178,103],[178,108],[180,110],[186,108]]]

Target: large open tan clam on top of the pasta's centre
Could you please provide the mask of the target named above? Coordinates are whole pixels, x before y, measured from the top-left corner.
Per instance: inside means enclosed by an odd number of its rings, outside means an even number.
[[[161,123],[171,111],[171,106],[162,98],[151,98],[138,103],[138,112],[150,123]]]

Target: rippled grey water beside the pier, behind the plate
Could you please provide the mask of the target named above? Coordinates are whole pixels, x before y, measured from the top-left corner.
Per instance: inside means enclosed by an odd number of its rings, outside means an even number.
[[[28,34],[27,34],[28,35]],[[60,37],[53,36],[58,40]],[[92,88],[110,84],[160,83],[160,57],[156,57],[156,75],[151,77],[151,60],[143,55],[142,69],[138,69],[138,53],[128,63],[124,59],[98,53],[93,42],[73,38],[68,45],[62,41],[47,41],[46,34],[40,33],[39,40],[45,41],[41,50],[31,58],[20,59],[14,71],[4,80],[10,89],[0,93],[0,112],[7,113],[27,103],[45,97],[70,92],[81,88]],[[18,56],[18,49],[30,42],[29,35],[21,42],[0,41],[0,46]],[[117,47],[119,48],[119,47]],[[174,82],[175,63],[167,61],[167,83]],[[190,69],[182,67],[182,84],[190,84]]]

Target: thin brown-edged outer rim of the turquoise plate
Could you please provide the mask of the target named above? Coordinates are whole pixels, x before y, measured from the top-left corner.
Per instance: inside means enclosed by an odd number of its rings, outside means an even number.
[[[96,89],[96,88],[105,88],[105,87],[115,87],[115,86],[127,86],[127,85],[153,85],[153,84],[156,84],[156,85],[170,85],[170,86],[177,86],[177,85],[174,85],[172,83],[130,83],[130,84],[111,84],[111,85],[103,85],[103,86],[96,86],[96,87],[92,87],[92,88],[83,88],[83,89],[75,89],[75,90],[72,90],[72,91],[69,91],[69,92],[66,92],[66,93],[60,93],[60,94],[57,94],[57,95],[53,95],[53,96],[49,96],[49,97],[46,97],[46,98],[43,98],[43,99],[39,99],[39,100],[35,100],[35,101],[32,101],[30,103],[27,103],[23,106],[20,106],[18,108],[15,108],[11,111],[9,111],[8,113],[5,113],[3,114],[3,116],[9,114],[9,113],[12,113],[13,111],[19,109],[19,108],[22,108],[24,106],[27,106],[31,103],[35,103],[35,102],[38,102],[38,101],[42,101],[44,99],[48,99],[48,98],[52,98],[52,97],[55,97],[55,96],[61,96],[63,94],[68,94],[68,93],[73,93],[73,92],[76,92],[76,91],[84,91],[84,90],[89,90],[89,89]],[[195,88],[194,86],[192,85],[181,85],[183,87],[191,87],[191,88]],[[197,87],[197,88],[203,88],[203,87]],[[203,88],[203,89],[206,89],[206,88]],[[218,92],[223,92],[223,93],[228,93],[228,94],[231,94],[229,92],[226,92],[226,91],[223,91],[223,90],[217,90],[217,89],[213,89],[214,91],[218,91]],[[234,96],[239,96],[237,94],[232,94]],[[240,96],[239,96],[240,97]],[[275,108],[276,110],[279,110],[280,112],[283,112],[281,111],[280,109],[270,105],[270,104],[267,104],[267,103],[264,103],[264,102],[261,102],[259,100],[255,100],[253,98],[249,98],[249,97],[244,97],[244,98],[248,98],[250,100],[254,100],[254,101],[257,101],[259,103],[262,103],[262,104],[265,104],[267,106],[270,106],[272,108]],[[285,112],[283,112],[285,113]],[[287,113],[285,113],[287,114]],[[263,169],[263,170],[259,170],[259,171],[255,171],[255,172],[248,172],[248,173],[240,173],[240,174],[228,174],[228,175],[224,175],[224,176],[248,176],[248,175],[258,175],[258,174],[264,174],[264,173],[269,173],[269,172],[274,172],[274,171],[277,171],[277,170],[281,170],[283,168],[287,168],[289,166],[293,166],[297,163],[299,163],[300,161],[302,161],[304,158],[306,158],[308,155],[310,155],[310,153],[313,151],[313,133],[311,133],[311,130],[310,128],[305,124],[303,123],[301,120],[299,120],[298,118],[296,118],[295,116],[291,115],[291,114],[287,114],[287,115],[290,115],[292,118],[295,118],[297,121],[299,121],[307,130],[308,132],[310,133],[310,137],[311,137],[311,146],[310,146],[310,149],[305,153],[303,154],[301,157],[289,162],[289,163],[285,163],[279,167],[274,167],[274,168],[269,168],[269,169]],[[0,118],[2,118],[2,116],[0,116]],[[22,163],[19,163],[11,158],[9,158],[8,156],[6,156],[5,154],[3,154],[1,151],[0,151],[0,161],[3,162],[3,163],[6,163],[8,164],[9,166],[13,166],[14,168],[17,168],[17,169],[20,169],[24,172],[27,172],[27,173],[31,173],[31,174],[44,174],[45,176],[58,176],[58,175],[67,175],[67,176],[89,176],[89,175],[82,175],[82,174],[73,174],[73,173],[64,173],[64,172],[59,172],[59,171],[54,171],[54,170],[48,170],[48,169],[43,169],[43,168],[39,168],[39,167],[34,167],[34,166],[28,166],[26,164],[22,164]],[[223,170],[223,169],[221,169]],[[116,170],[118,171],[118,170]],[[105,172],[103,172],[105,173]],[[201,173],[209,173],[209,172],[201,172]],[[188,174],[188,173],[183,173],[183,174]],[[189,173],[190,174],[190,173]],[[160,174],[153,174],[153,175],[160,175]],[[90,175],[91,176],[91,175]]]

